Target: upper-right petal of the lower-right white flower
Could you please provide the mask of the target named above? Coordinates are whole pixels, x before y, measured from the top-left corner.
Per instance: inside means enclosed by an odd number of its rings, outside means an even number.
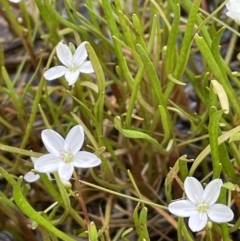
[[[215,203],[219,197],[221,186],[222,186],[221,179],[214,179],[211,182],[209,182],[203,192],[202,201],[208,204],[208,206]]]

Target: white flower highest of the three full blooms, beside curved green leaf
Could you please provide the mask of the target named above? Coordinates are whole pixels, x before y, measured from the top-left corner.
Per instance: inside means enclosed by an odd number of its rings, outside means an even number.
[[[44,78],[47,80],[57,79],[65,76],[69,85],[73,85],[80,73],[93,73],[93,67],[90,61],[85,61],[88,54],[85,48],[87,42],[81,43],[76,49],[75,53],[72,54],[70,48],[59,43],[56,48],[58,59],[63,65],[55,66],[50,68],[44,73]]]

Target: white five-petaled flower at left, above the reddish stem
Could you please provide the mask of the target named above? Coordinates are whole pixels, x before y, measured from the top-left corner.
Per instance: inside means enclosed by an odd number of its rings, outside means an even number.
[[[80,125],[74,126],[65,140],[53,130],[43,130],[42,141],[49,153],[35,161],[34,169],[45,173],[58,171],[63,183],[71,178],[74,167],[89,168],[101,163],[96,155],[79,151],[84,141],[84,131]]]

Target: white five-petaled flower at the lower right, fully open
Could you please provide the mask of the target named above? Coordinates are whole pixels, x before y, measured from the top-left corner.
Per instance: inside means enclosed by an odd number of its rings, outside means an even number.
[[[223,204],[215,204],[222,186],[221,179],[214,179],[203,189],[194,177],[187,177],[184,189],[188,200],[178,200],[168,206],[168,210],[179,216],[189,217],[188,226],[193,232],[202,230],[208,219],[225,223],[233,219],[232,210]]]

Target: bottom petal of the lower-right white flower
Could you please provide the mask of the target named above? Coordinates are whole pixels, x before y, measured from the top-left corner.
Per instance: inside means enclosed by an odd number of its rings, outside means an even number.
[[[207,214],[195,212],[188,220],[188,226],[193,232],[201,231],[207,224]]]

